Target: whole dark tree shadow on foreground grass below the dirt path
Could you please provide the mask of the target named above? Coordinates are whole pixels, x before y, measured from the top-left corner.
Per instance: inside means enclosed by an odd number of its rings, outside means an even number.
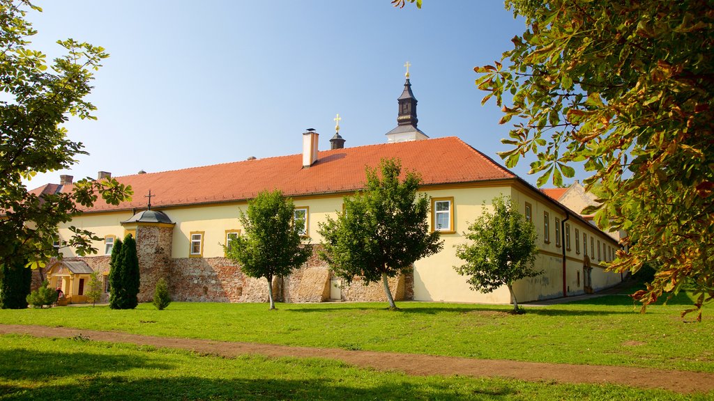
[[[67,346],[67,342],[58,344]],[[83,347],[78,344],[78,349]],[[498,400],[516,392],[508,385],[479,385],[464,394],[441,382],[418,385],[341,383],[331,377],[220,379],[181,375],[181,365],[137,355],[105,355],[26,348],[0,352],[2,400]],[[136,372],[124,373],[128,370]],[[159,372],[156,372],[159,370]],[[158,375],[159,377],[141,377]],[[269,374],[268,374],[269,376]],[[69,379],[69,380],[67,380]],[[21,383],[18,383],[21,382]]]

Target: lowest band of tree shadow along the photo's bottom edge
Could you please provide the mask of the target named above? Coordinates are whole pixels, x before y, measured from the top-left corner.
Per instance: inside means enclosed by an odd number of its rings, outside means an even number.
[[[511,388],[480,388],[471,399],[513,397]],[[463,392],[448,385],[388,383],[348,387],[329,380],[234,379],[167,377],[126,380],[89,377],[71,385],[2,386],[7,400],[463,400]]]

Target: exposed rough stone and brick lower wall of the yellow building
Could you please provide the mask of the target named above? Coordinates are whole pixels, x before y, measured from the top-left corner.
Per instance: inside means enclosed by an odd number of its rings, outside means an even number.
[[[166,233],[157,227],[137,233],[144,241],[139,245],[141,291],[139,301],[150,301],[159,278],[169,283],[171,298],[190,302],[268,302],[268,283],[264,278],[250,278],[241,272],[238,264],[228,258],[167,258],[170,248],[162,248],[159,240]],[[160,228],[159,228],[160,229]],[[170,231],[169,231],[170,233]],[[151,244],[151,245],[150,245]],[[65,258],[84,260],[93,270],[109,272],[109,256]],[[291,275],[273,279],[273,295],[277,301],[287,303],[324,302],[330,298],[330,279],[334,273],[318,258],[318,249],[301,268]],[[39,279],[36,279],[39,280]],[[39,284],[38,284],[39,285]],[[389,280],[395,300],[413,299],[413,275],[401,275]],[[382,283],[363,285],[356,278],[342,291],[346,301],[386,301]]]

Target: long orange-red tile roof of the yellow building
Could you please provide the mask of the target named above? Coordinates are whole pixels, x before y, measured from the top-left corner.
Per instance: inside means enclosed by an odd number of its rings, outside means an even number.
[[[516,178],[461,139],[447,137],[320,151],[309,168],[302,168],[302,154],[296,154],[116,177],[131,185],[134,200],[117,206],[99,200],[87,211],[144,208],[149,189],[157,208],[246,200],[273,189],[285,196],[355,191],[364,187],[365,167],[378,166],[381,158],[400,158],[402,170],[421,173],[423,185]]]

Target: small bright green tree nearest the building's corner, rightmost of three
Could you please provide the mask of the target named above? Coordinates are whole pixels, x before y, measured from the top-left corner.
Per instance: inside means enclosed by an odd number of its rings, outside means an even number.
[[[511,292],[513,312],[518,312],[518,301],[513,293],[513,283],[543,273],[533,269],[535,255],[535,226],[518,213],[515,203],[502,196],[493,198],[493,213],[484,211],[464,233],[470,244],[456,247],[456,255],[466,264],[455,266],[461,275],[470,275],[467,281],[472,290],[491,293],[506,285]]]

